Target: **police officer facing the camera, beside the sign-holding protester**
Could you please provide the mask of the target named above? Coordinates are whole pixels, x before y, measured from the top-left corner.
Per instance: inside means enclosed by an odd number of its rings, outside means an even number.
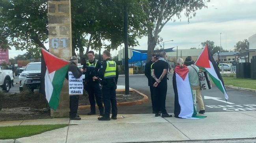
[[[91,105],[91,112],[88,113],[88,115],[95,115],[95,99],[97,102],[97,105],[99,107],[100,115],[104,115],[104,108],[102,105],[102,98],[101,98],[101,88],[99,87],[99,79],[98,71],[101,67],[101,63],[98,60],[94,59],[94,52],[89,51],[88,52],[88,59],[83,66],[83,69],[85,70],[85,82],[86,82],[86,90],[88,91],[89,95],[89,101]]]

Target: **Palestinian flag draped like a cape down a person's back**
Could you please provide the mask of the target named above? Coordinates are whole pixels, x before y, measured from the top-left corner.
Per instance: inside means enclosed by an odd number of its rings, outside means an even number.
[[[206,116],[196,115],[196,107],[193,99],[192,89],[189,83],[189,69],[176,66],[172,77],[172,85],[175,94],[174,116],[183,119],[202,119]],[[196,99],[195,99],[196,100]]]

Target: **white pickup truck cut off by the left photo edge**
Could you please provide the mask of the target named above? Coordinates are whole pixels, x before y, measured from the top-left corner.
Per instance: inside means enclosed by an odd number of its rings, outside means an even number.
[[[1,69],[0,67],[0,87],[4,92],[9,92],[13,83],[13,71],[9,69]]]

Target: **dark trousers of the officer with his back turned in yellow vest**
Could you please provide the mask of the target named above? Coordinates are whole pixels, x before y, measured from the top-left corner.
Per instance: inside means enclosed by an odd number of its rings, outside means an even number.
[[[110,108],[112,107],[112,115],[117,115],[116,107],[116,83],[108,82],[103,84],[103,103],[105,107],[105,117],[109,117]]]

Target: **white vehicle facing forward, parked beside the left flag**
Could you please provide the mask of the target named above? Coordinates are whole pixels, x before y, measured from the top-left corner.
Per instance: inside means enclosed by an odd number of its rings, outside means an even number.
[[[31,91],[38,89],[41,83],[41,62],[28,63],[19,75],[20,92],[26,86]]]

